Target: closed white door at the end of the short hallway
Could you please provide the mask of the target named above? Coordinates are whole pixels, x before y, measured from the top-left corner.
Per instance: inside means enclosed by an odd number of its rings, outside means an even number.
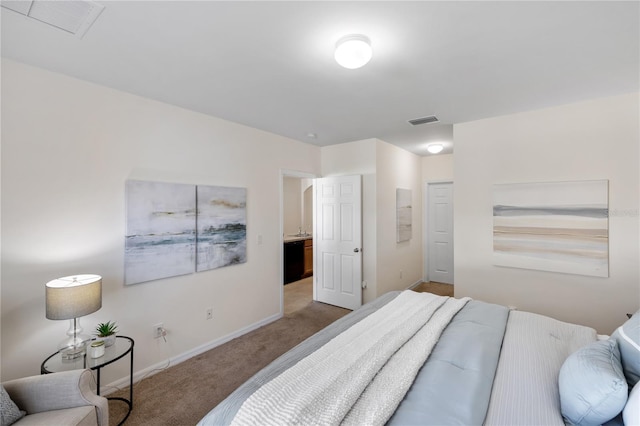
[[[427,183],[426,195],[426,281],[453,285],[453,182]]]

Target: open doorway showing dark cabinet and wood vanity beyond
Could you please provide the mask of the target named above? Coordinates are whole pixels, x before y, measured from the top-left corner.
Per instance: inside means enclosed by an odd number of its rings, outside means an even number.
[[[309,173],[281,172],[280,288],[284,315],[304,308],[313,300],[314,178]]]

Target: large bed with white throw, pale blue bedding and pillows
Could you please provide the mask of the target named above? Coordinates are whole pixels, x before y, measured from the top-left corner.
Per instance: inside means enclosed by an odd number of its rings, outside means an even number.
[[[640,311],[609,336],[468,298],[387,293],[199,425],[640,424]]]

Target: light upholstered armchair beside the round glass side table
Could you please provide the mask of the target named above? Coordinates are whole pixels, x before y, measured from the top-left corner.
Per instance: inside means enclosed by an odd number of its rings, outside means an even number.
[[[31,376],[2,383],[26,415],[14,425],[109,425],[109,405],[91,388],[90,370]],[[4,415],[4,413],[3,413]]]

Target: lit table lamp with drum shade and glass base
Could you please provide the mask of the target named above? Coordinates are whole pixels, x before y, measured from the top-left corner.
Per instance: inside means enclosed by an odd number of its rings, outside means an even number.
[[[47,318],[70,322],[68,337],[58,345],[62,359],[83,356],[91,336],[82,334],[80,317],[102,307],[102,277],[89,274],[62,277],[49,281],[45,288]]]

